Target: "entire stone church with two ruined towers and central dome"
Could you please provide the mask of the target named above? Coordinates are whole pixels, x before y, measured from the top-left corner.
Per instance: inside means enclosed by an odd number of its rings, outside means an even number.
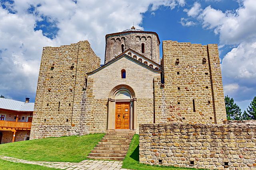
[[[30,139],[226,119],[217,44],[163,41],[160,59],[156,32],[105,38],[102,66],[88,41],[43,48]]]

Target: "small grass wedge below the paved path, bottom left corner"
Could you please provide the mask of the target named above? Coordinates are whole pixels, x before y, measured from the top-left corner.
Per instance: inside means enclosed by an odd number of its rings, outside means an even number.
[[[54,168],[48,168],[40,165],[14,163],[0,159],[0,170],[54,170]]]

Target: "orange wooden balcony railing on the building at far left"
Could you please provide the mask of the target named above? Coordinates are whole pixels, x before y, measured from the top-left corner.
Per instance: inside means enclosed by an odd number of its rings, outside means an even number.
[[[5,121],[0,120],[0,130],[30,130],[32,122]]]

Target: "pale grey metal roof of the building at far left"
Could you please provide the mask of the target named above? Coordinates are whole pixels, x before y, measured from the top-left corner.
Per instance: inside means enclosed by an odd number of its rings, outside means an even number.
[[[15,111],[34,111],[34,103],[25,103],[17,100],[0,98],[0,109]]]

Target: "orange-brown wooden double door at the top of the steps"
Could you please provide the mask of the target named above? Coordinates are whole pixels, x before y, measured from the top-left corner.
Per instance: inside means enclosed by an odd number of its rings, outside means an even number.
[[[116,129],[130,128],[130,102],[116,102]]]

